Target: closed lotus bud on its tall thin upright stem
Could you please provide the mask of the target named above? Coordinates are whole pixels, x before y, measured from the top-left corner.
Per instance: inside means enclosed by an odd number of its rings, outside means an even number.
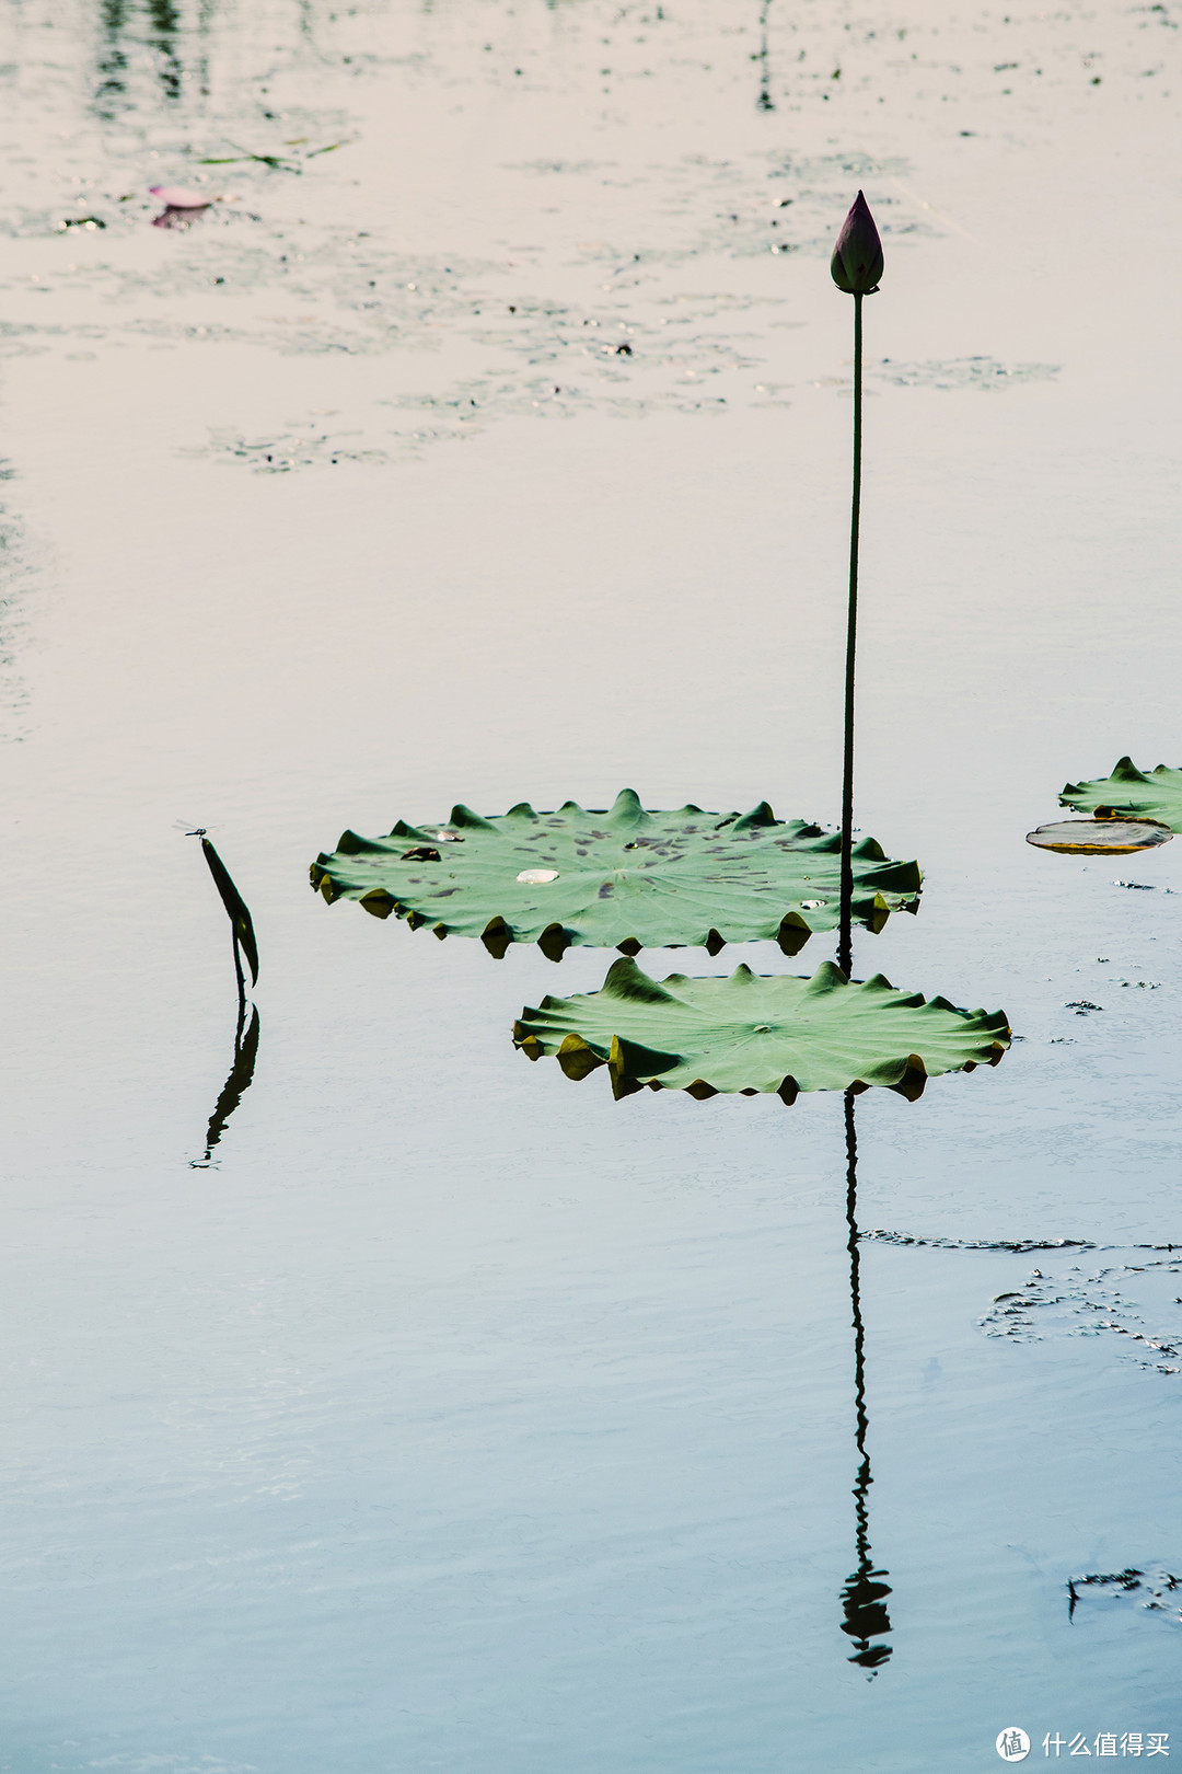
[[[833,248],[829,273],[854,298],[854,486],[849,520],[849,614],[845,621],[845,745],[842,766],[842,889],[836,965],[849,979],[854,967],[854,658],[858,649],[858,529],[861,522],[861,298],[883,277],[883,241],[870,206],[858,192]]]

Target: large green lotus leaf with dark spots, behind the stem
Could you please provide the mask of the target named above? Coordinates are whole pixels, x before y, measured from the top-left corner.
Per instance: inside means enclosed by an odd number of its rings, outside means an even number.
[[[854,846],[854,919],[881,930],[916,910],[916,862],[890,862],[881,844]],[[551,960],[572,944],[640,949],[773,938],[796,954],[838,922],[840,837],[803,820],[753,812],[647,812],[631,789],[606,809],[569,800],[556,812],[521,802],[482,820],[454,807],[447,825],[404,825],[388,837],[346,832],[312,864],[324,898],[360,899],[438,937],[482,937],[498,958],[537,942]]]

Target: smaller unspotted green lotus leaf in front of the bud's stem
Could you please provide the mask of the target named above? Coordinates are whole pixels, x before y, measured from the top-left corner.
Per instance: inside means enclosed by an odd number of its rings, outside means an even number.
[[[739,967],[730,979],[657,985],[620,960],[599,992],[523,1009],[514,1041],[530,1059],[555,1054],[569,1079],[606,1064],[617,1096],[649,1084],[691,1096],[776,1091],[792,1103],[797,1091],[884,1084],[914,1102],[941,1071],[996,1066],[1010,1029],[1003,1011],[927,1002],[883,974],[851,985],[831,962],[812,979]]]

